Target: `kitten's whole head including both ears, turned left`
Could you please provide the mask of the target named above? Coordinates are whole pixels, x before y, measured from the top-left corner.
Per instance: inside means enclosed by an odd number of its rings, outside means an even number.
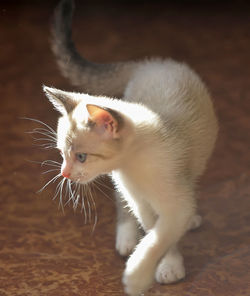
[[[57,128],[62,176],[87,183],[117,169],[131,135],[131,124],[109,107],[113,100],[45,86],[43,89],[62,115]]]

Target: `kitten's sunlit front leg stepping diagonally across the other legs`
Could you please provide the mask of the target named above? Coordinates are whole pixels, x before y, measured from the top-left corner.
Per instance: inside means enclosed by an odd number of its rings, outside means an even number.
[[[185,196],[190,194],[189,190],[181,192],[181,188],[174,188],[167,192],[172,192],[173,196],[165,202],[162,202],[162,196],[154,198],[157,221],[127,261],[123,283],[129,295],[140,295],[150,287],[157,263],[171,246],[177,244],[194,215],[192,198]],[[177,257],[176,255],[175,258]],[[181,258],[179,261],[181,262]]]

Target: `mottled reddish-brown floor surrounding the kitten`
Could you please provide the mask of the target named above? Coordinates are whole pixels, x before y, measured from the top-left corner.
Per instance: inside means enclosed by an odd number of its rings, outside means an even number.
[[[220,121],[199,187],[204,223],[182,243],[186,279],[155,283],[147,295],[250,295],[249,5],[174,3],[77,1],[74,40],[96,62],[172,57],[203,77]],[[23,118],[55,128],[57,113],[41,86],[72,89],[50,51],[55,4],[0,3],[0,295],[124,295],[109,181],[96,188],[87,221],[53,200],[56,182],[38,192],[55,175],[43,173],[53,167],[41,162],[60,156],[37,146],[29,132],[42,125]]]

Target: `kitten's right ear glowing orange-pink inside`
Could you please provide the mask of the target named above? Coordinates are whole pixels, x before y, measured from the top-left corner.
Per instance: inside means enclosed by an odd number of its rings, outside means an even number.
[[[92,104],[87,104],[86,107],[90,123],[94,124],[100,134],[105,138],[118,139],[120,137],[123,118],[117,111]]]

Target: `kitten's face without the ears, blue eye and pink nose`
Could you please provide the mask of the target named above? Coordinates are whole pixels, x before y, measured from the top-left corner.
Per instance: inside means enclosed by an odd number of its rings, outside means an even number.
[[[61,173],[73,181],[86,183],[111,172],[119,159],[119,141],[99,134],[89,123],[63,116],[58,123],[58,142],[63,163]]]

